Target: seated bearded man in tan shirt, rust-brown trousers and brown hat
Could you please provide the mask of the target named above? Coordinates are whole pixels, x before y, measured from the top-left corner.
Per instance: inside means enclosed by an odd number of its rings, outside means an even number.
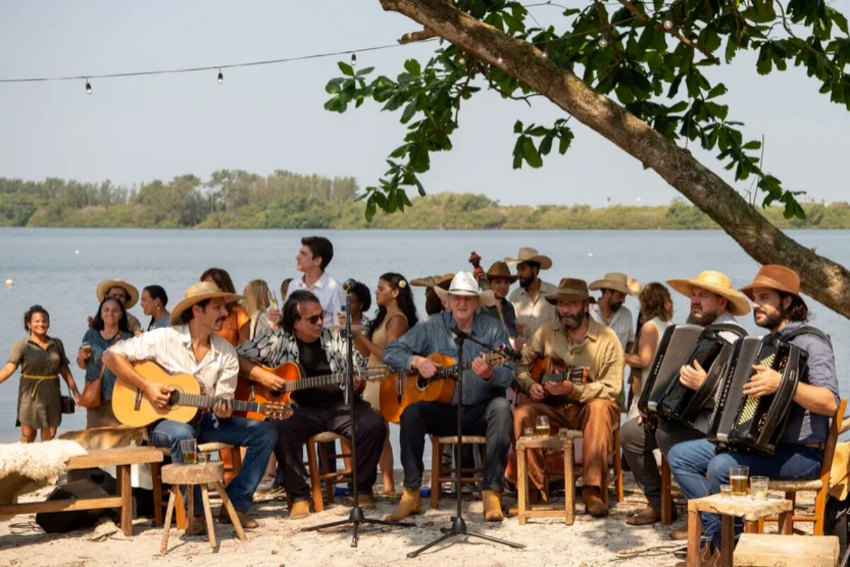
[[[584,432],[581,497],[587,513],[606,516],[608,507],[602,501],[601,488],[613,448],[612,424],[620,419],[623,403],[623,349],[614,331],[590,317],[587,282],[564,278],[558,291],[547,295],[546,300],[556,306],[558,320],[549,321],[537,330],[516,366],[519,388],[531,401],[514,411],[513,437],[519,439],[524,428],[534,428],[539,416],[549,417],[553,431],[581,428]],[[567,371],[587,368],[587,383],[566,379],[545,384],[535,382],[531,368],[543,358],[562,362]],[[555,398],[544,401],[547,396]],[[529,451],[528,474],[537,490],[543,490],[544,468],[543,452]]]

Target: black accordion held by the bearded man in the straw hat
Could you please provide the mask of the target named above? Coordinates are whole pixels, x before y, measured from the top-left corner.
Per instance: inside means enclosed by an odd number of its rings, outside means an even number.
[[[693,427],[694,421],[706,407],[706,403],[714,398],[717,384],[725,376],[732,356],[733,343],[722,337],[720,333],[732,332],[740,336],[744,330],[740,326],[724,324],[706,327],[680,325],[676,326],[676,329],[673,331],[664,356],[670,358],[673,354],[670,362],[678,360],[678,364],[675,366],[669,363],[662,364],[659,368],[658,376],[655,377],[655,383],[647,400],[647,413],[649,415],[655,413],[663,419],[672,419]],[[693,338],[694,334],[696,334],[695,338]],[[675,339],[678,335],[681,335],[681,341],[677,343]],[[688,340],[685,337],[688,337]],[[664,346],[662,343],[659,351]],[[681,353],[684,355],[682,356]],[[694,362],[699,362],[706,371],[706,381],[696,390],[683,386],[679,382],[679,371],[682,366],[693,365]]]

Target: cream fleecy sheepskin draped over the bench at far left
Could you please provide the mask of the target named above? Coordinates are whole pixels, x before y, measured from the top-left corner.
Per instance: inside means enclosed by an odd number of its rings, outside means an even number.
[[[0,444],[0,504],[12,504],[18,496],[50,484],[65,473],[68,459],[85,454],[79,443],[60,439]],[[0,520],[10,517],[0,514]]]

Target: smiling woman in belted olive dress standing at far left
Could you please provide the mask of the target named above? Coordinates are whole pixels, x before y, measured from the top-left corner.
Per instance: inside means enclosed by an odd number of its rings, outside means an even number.
[[[18,422],[21,443],[32,443],[36,432],[41,430],[42,441],[56,435],[62,422],[61,388],[59,376],[65,378],[68,389],[75,400],[80,392],[71,369],[62,341],[48,337],[50,315],[41,305],[33,305],[24,314],[24,329],[29,337],[14,343],[8,362],[0,370],[0,383],[14,374],[20,366],[18,388]]]

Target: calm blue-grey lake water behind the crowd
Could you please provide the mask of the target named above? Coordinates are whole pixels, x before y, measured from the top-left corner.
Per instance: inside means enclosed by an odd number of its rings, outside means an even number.
[[[725,233],[707,231],[377,231],[377,230],[112,230],[0,228],[0,282],[14,286],[0,290],[0,349],[25,337],[22,315],[32,303],[50,312],[50,333],[65,342],[73,359],[86,331],[86,317],[98,307],[98,282],[121,278],[142,287],[166,288],[171,305],[204,269],[227,269],[237,290],[261,278],[276,289],[286,277],[297,277],[295,255],[304,235],[325,235],[334,244],[335,257],[328,273],[339,281],[354,277],[374,291],[377,278],[397,271],[408,278],[470,269],[469,252],[479,252],[486,269],[492,262],[514,256],[520,247],[536,247],[553,259],[542,272],[558,283],[571,276],[589,281],[605,272],[621,271],[644,284],[672,277],[694,277],[703,269],[718,269],[734,286],[752,281],[758,264]],[[850,265],[850,231],[791,231],[791,236],[843,265]],[[415,288],[420,314],[422,290]],[[688,314],[689,301],[673,292],[674,320]],[[636,313],[638,301],[626,305]],[[850,394],[850,322],[809,300],[818,326],[832,337],[842,396]],[[146,326],[137,305],[131,312]],[[742,321],[748,331],[763,334]],[[5,356],[5,354],[0,354]],[[83,372],[72,371],[82,387]],[[19,439],[14,428],[18,381],[16,373],[0,385],[0,441]],[[85,410],[65,416],[61,430],[85,427]],[[398,428],[392,428],[398,462]],[[428,453],[426,453],[428,454]],[[426,458],[426,462],[428,459]]]

